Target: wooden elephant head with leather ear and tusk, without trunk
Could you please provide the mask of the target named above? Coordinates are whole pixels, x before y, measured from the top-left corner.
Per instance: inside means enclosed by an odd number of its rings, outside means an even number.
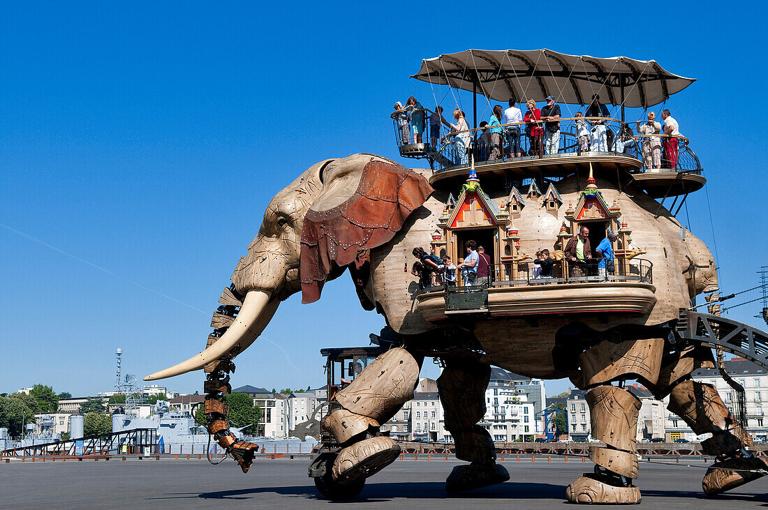
[[[280,301],[300,290],[303,303],[317,301],[325,281],[362,265],[370,248],[389,242],[432,191],[418,173],[370,154],[310,167],[270,201],[259,233],[240,258],[231,279],[233,294],[239,294],[234,299],[243,298],[223,335],[200,354],[144,380],[197,370],[244,350]]]

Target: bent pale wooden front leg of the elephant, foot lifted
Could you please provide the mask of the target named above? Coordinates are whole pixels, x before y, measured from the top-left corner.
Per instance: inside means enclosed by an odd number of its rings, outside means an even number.
[[[329,466],[330,482],[353,486],[389,466],[400,446],[382,436],[379,426],[413,398],[419,363],[405,349],[394,348],[374,360],[348,387],[336,393],[322,427],[341,447]],[[362,487],[362,485],[361,485]]]

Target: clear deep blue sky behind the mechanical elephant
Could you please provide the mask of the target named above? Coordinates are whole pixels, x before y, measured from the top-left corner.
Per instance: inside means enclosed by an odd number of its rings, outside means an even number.
[[[690,228],[710,248],[715,233],[725,293],[756,285],[768,265],[766,70],[763,34],[743,13],[760,18],[762,5],[439,5],[0,7],[0,393],[111,390],[117,347],[139,376],[197,353],[273,194],[326,157],[397,158],[392,103],[434,103],[409,75],[467,48],[654,58],[698,78],[667,103],[709,181],[713,224],[701,191]],[[760,326],[757,309],[730,317]],[[321,347],[366,344],[380,327],[340,278],[316,304],[286,301],[233,383],[319,386]],[[202,379],[164,383],[194,392]]]

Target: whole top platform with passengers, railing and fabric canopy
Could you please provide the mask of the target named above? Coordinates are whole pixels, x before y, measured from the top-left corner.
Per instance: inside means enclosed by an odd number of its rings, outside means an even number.
[[[431,84],[435,104],[452,104],[429,109],[410,97],[390,115],[400,155],[428,160],[433,186],[462,182],[473,161],[486,179],[557,179],[593,166],[657,199],[706,183],[670,110],[651,110],[694,80],[655,61],[468,50],[424,60],[412,77]],[[472,126],[459,90],[472,91]],[[626,108],[643,110],[627,120]]]

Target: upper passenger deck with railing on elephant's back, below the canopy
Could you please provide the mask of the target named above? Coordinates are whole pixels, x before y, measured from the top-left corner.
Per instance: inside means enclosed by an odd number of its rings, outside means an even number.
[[[392,114],[396,143],[401,156],[423,158],[432,167],[429,182],[441,189],[455,189],[469,173],[474,160],[478,177],[486,183],[505,179],[538,176],[563,178],[585,173],[589,166],[597,176],[617,181],[620,186],[634,184],[654,199],[687,195],[701,189],[707,179],[699,159],[685,137],[676,137],[677,159],[670,160],[663,146],[667,134],[647,135],[634,132],[630,125],[611,117],[563,117],[559,120],[557,150],[547,152],[543,137],[531,137],[531,128],[544,129],[544,122],[505,123],[495,127],[497,136],[488,128],[457,133],[429,123],[433,112],[421,111],[427,121],[422,134],[407,131],[402,120]],[[606,127],[595,135],[593,125]],[[588,140],[579,141],[579,130],[587,130]],[[528,134],[527,134],[528,133]],[[469,140],[465,147],[462,140]],[[493,159],[492,159],[493,158]]]

